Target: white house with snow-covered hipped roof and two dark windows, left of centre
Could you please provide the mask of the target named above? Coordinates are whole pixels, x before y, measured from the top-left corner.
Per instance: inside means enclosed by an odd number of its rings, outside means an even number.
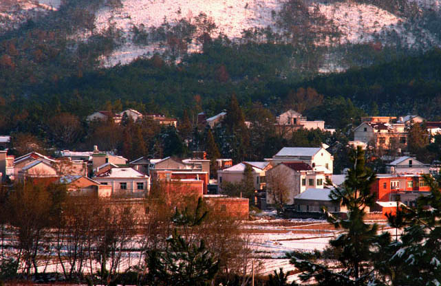
[[[111,186],[113,197],[144,197],[149,192],[150,178],[133,168],[111,168],[94,181]]]

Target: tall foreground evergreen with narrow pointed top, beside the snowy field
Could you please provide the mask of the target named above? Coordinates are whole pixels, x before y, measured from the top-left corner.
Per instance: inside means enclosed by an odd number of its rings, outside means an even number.
[[[354,167],[349,169],[343,187],[335,188],[330,193],[334,203],[341,203],[341,206],[347,208],[347,219],[338,219],[327,212],[328,221],[336,228],[345,230],[338,238],[330,241],[331,248],[337,253],[339,270],[334,272],[327,265],[290,255],[291,263],[303,272],[303,281],[315,279],[318,285],[366,285],[373,279],[371,262],[374,245],[378,241],[378,226],[376,223],[365,223],[364,217],[366,208],[374,205],[375,195],[371,193],[371,186],[376,176],[365,166],[364,156],[361,147],[352,151],[350,157]]]

